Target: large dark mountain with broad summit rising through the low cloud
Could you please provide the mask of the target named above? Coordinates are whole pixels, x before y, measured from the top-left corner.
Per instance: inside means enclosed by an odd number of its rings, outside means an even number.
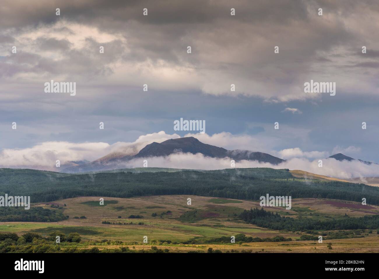
[[[229,157],[236,162],[250,160],[268,162],[277,165],[285,161],[267,153],[252,152],[248,150],[226,150],[222,147],[202,143],[194,137],[182,137],[180,139],[169,139],[162,143],[150,143],[142,148],[137,154],[134,154],[134,156],[133,154],[125,155],[124,153],[110,153],[93,162],[68,167],[64,169],[63,172],[76,173],[120,169],[125,168],[126,163],[130,159],[168,156],[179,152],[192,154],[201,153],[204,156],[211,158]]]

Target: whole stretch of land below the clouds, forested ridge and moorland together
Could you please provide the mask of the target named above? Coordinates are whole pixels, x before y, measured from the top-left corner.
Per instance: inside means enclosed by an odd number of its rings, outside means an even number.
[[[266,168],[145,169],[2,169],[0,191],[34,202],[1,208],[0,252],[379,252],[377,187]],[[291,209],[261,207],[268,193],[291,196]]]

